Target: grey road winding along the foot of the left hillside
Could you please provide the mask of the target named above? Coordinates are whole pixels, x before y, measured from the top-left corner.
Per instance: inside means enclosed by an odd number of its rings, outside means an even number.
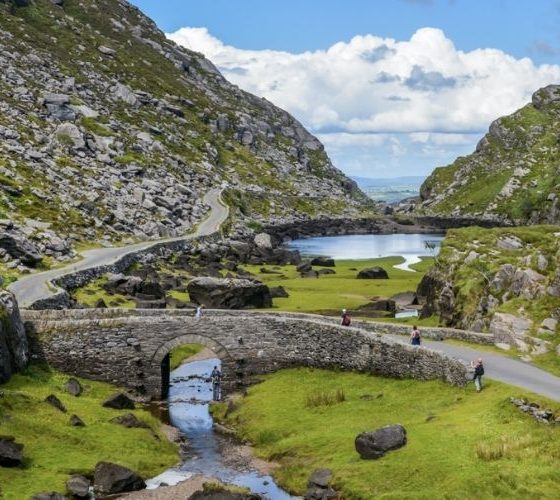
[[[49,284],[55,278],[74,271],[81,271],[92,267],[113,264],[124,255],[137,250],[143,250],[162,242],[189,240],[198,236],[207,236],[215,233],[220,225],[227,219],[229,210],[220,200],[221,190],[214,189],[204,196],[204,203],[210,206],[209,216],[199,224],[196,231],[187,236],[164,238],[159,240],[144,241],[124,247],[96,248],[81,253],[82,260],[68,266],[42,273],[35,273],[15,281],[9,289],[15,294],[19,306],[28,308],[40,299],[51,297],[56,293],[56,288]]]

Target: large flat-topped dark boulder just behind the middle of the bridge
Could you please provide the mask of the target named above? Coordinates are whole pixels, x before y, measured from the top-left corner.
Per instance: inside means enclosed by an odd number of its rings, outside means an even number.
[[[214,309],[271,307],[268,286],[248,279],[195,278],[187,285],[192,302]]]

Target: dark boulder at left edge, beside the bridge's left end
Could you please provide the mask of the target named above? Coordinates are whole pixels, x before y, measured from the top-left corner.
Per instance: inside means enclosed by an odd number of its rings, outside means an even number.
[[[0,291],[0,383],[7,382],[12,373],[21,370],[29,361],[27,336],[15,297]]]

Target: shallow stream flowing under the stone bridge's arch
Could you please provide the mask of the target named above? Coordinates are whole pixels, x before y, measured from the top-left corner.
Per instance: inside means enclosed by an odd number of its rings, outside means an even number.
[[[229,438],[214,432],[213,419],[208,411],[212,400],[210,373],[214,366],[220,366],[219,359],[184,363],[171,372],[169,423],[186,437],[188,446],[181,465],[148,480],[148,489],[157,488],[162,483],[172,486],[195,474],[203,474],[249,488],[271,500],[299,498],[279,488],[271,476],[226,463],[222,448]]]

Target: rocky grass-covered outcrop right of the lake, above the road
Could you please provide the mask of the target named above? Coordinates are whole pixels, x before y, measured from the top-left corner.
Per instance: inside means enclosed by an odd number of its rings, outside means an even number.
[[[444,326],[543,352],[559,343],[560,227],[449,231],[418,295]]]

